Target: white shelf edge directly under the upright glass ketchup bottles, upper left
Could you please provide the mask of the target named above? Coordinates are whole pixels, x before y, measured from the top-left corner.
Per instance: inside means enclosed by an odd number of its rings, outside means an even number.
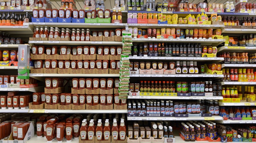
[[[29,41],[30,44],[43,45],[122,45],[115,41]]]

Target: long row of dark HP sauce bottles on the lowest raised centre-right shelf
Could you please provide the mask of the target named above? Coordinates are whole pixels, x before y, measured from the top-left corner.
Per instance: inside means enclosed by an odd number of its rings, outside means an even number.
[[[168,116],[175,114],[199,114],[212,113],[219,115],[219,104],[215,100],[197,100],[177,102],[171,100],[140,100],[135,103],[133,100],[128,102],[128,116]]]

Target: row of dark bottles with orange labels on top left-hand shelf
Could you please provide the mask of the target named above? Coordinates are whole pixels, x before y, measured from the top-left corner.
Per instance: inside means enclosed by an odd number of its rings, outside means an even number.
[[[32,15],[26,12],[26,14],[12,14],[8,12],[0,13],[0,23],[10,23],[10,24],[23,24],[31,22]]]

